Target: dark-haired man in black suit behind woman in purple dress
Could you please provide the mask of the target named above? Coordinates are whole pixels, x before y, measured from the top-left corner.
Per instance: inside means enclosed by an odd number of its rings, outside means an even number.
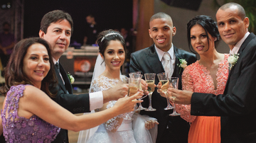
[[[75,114],[102,108],[103,103],[117,101],[118,98],[127,95],[128,87],[126,84],[108,91],[90,93],[90,95],[88,93],[80,95],[73,94],[73,88],[68,75],[59,62],[61,55],[63,55],[70,45],[72,33],[73,20],[70,14],[55,10],[43,16],[39,36],[47,40],[51,45],[53,63],[55,63],[55,72],[58,77],[58,94],[53,100]],[[54,142],[68,142],[68,130],[61,129]]]

